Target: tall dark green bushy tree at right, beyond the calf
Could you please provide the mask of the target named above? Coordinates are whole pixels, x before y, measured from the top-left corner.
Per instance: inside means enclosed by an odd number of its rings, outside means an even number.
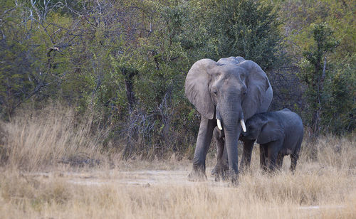
[[[352,130],[355,126],[355,73],[350,60],[339,63],[327,62],[328,52],[335,50],[339,42],[333,31],[325,24],[315,25],[313,29],[315,45],[303,53],[300,62],[300,78],[308,86],[305,96],[308,103],[308,118],[313,134],[320,128],[337,134]],[[328,67],[328,68],[326,68]]]

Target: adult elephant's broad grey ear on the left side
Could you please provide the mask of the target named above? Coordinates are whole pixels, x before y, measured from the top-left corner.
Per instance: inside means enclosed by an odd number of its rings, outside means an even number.
[[[209,70],[217,65],[214,60],[201,59],[194,63],[190,68],[187,78],[185,79],[185,95],[198,112],[208,118],[214,118],[214,104],[209,92],[209,82],[211,75]]]

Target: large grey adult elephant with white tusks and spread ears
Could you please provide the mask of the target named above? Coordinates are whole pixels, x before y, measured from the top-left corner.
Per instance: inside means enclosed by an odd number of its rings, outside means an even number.
[[[202,59],[189,70],[185,94],[201,114],[189,180],[206,178],[206,153],[217,125],[224,129],[229,176],[231,181],[236,181],[239,174],[237,144],[241,129],[246,129],[244,119],[266,112],[272,101],[273,91],[266,73],[256,63],[242,57],[221,58],[218,62]],[[241,166],[250,164],[253,142],[244,141]]]

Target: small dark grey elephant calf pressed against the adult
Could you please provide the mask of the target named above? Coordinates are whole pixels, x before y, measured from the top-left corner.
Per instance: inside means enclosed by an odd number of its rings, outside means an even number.
[[[246,121],[246,129],[243,139],[257,139],[260,144],[262,169],[279,169],[283,157],[290,155],[290,170],[295,171],[303,141],[303,122],[298,114],[288,109],[255,114]]]

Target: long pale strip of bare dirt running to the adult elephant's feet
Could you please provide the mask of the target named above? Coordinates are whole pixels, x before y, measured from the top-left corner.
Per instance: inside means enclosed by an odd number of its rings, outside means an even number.
[[[122,186],[197,186],[204,184],[212,187],[229,186],[227,181],[214,180],[211,168],[206,169],[207,180],[203,182],[188,181],[189,168],[178,170],[108,170],[108,171],[54,171],[50,173],[24,173],[25,176],[46,181],[49,178],[61,178],[67,183],[83,186],[103,186],[115,183]]]

